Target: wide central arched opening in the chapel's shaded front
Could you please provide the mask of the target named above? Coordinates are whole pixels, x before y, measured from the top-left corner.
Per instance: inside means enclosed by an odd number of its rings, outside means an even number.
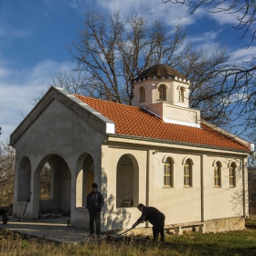
[[[48,166],[50,178],[48,182],[49,197],[48,199],[40,198],[40,176],[44,168]],[[33,218],[38,217],[38,213],[42,211],[50,211],[55,213],[70,214],[71,202],[71,174],[69,165],[59,155],[48,155],[39,165],[34,176],[34,208]]]

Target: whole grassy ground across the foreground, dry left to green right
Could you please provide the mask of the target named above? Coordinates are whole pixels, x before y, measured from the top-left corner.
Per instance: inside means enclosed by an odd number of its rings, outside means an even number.
[[[256,255],[256,216],[246,220],[247,229],[222,233],[166,235],[165,244],[136,241],[59,244],[20,237],[0,230],[0,254],[5,255]]]

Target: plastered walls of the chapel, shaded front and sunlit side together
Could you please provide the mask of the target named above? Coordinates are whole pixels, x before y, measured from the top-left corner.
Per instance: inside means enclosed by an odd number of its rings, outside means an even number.
[[[99,126],[102,125],[99,123]],[[96,125],[97,126],[97,125]],[[98,126],[98,127],[99,127]],[[16,142],[16,176],[14,213],[19,217],[25,208],[25,201],[17,201],[18,166],[23,157],[27,156],[31,163],[31,190],[35,186],[35,171],[39,163],[48,155],[61,156],[71,174],[71,225],[85,228],[88,222],[88,210],[76,208],[76,181],[80,170],[77,169],[80,155],[88,153],[95,163],[95,182],[105,196],[106,204],[102,209],[101,228],[125,229],[130,228],[140,216],[137,208],[116,208],[116,165],[122,155],[133,155],[136,162],[139,189],[138,202],[155,206],[165,213],[165,224],[192,222],[203,219],[221,219],[242,216],[248,211],[247,204],[234,204],[232,197],[241,189],[241,175],[237,178],[237,186],[229,188],[227,163],[237,160],[236,153],[226,151],[202,149],[186,145],[154,144],[127,140],[110,146],[102,145],[106,137],[84,122],[74,112],[59,101],[52,101],[37,120]],[[129,145],[127,145],[129,144]],[[153,150],[161,148],[161,150]],[[178,151],[176,150],[178,148]],[[217,156],[216,156],[217,155]],[[219,157],[218,155],[222,155]],[[224,155],[224,156],[223,156]],[[233,155],[233,156],[230,156]],[[246,154],[244,154],[246,155]],[[174,187],[163,187],[163,159],[170,156],[175,160]],[[183,165],[185,157],[193,161],[193,187],[183,187]],[[241,156],[240,156],[241,157]],[[213,161],[219,158],[222,163],[221,187],[214,187]],[[202,160],[203,159],[203,160]],[[239,166],[239,164],[237,164]],[[148,172],[148,185],[146,185]],[[203,175],[202,175],[203,174]],[[247,177],[245,169],[245,178]],[[201,182],[203,181],[203,198]],[[244,182],[246,186],[246,181]],[[245,187],[246,190],[246,187]],[[246,194],[244,192],[244,194]],[[246,196],[246,195],[245,195]],[[237,197],[243,200],[242,197]],[[37,202],[37,195],[31,195],[27,204],[26,218],[37,218],[33,204]],[[203,205],[203,210],[202,210]],[[245,206],[245,210],[244,210]],[[202,215],[203,212],[203,215]],[[141,224],[140,227],[143,227]]]

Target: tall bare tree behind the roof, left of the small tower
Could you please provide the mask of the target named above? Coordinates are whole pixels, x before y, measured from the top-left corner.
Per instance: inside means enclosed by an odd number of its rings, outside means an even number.
[[[143,17],[122,18],[88,12],[79,41],[69,53],[86,76],[83,87],[90,95],[133,104],[133,79],[155,64],[177,67],[187,54],[186,31],[177,25],[173,33],[159,21]]]

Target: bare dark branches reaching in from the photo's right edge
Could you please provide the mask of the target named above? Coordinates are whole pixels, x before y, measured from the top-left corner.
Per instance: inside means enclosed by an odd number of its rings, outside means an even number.
[[[251,35],[251,46],[255,38],[255,30],[253,27],[256,5],[254,0],[162,0],[163,3],[173,3],[187,5],[192,8],[191,14],[202,6],[206,6],[208,12],[225,13],[225,15],[236,15],[238,25],[233,27],[237,30],[243,30],[240,38],[246,34]],[[252,55],[250,61],[243,61],[241,64],[223,63],[218,69],[212,70],[218,74],[219,86],[217,93],[221,89],[223,93],[223,104],[220,104],[222,112],[232,116],[231,121],[237,126],[242,126],[244,132],[253,127],[255,121],[255,57]],[[213,101],[210,101],[212,103]],[[213,104],[214,106],[215,104]],[[254,118],[253,118],[254,116]],[[242,132],[243,133],[243,132]]]

